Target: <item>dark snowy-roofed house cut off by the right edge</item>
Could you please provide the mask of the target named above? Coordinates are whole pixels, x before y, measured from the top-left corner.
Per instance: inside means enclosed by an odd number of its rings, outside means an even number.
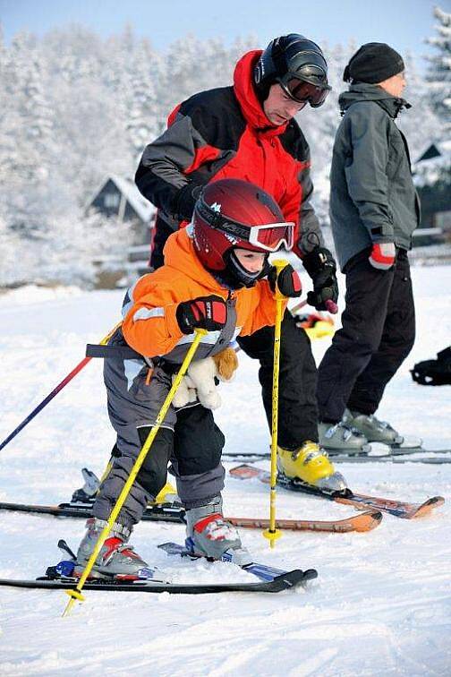
[[[451,139],[428,143],[413,165],[421,226],[451,233]]]

